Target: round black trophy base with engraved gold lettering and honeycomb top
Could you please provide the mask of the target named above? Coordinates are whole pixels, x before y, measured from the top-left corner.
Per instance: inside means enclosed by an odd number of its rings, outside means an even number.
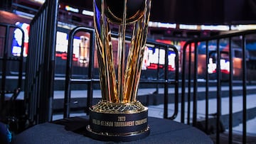
[[[148,109],[139,101],[127,104],[100,102],[90,111],[87,135],[103,141],[132,141],[149,135]]]

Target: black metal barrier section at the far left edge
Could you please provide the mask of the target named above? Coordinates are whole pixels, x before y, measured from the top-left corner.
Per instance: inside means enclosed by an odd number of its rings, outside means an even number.
[[[11,43],[14,36],[14,29],[18,29],[21,31],[21,50],[19,56],[11,55]],[[23,77],[23,48],[24,48],[24,38],[25,34],[22,28],[19,26],[15,26],[7,23],[0,23],[1,33],[4,34],[4,37],[1,37],[0,45],[3,48],[0,48],[0,52],[3,52],[0,55],[0,74],[1,74],[1,88],[0,88],[0,121],[5,121],[6,123],[12,122],[17,123],[17,117],[15,111],[15,100],[18,94],[21,92],[22,85],[22,77]],[[11,38],[10,38],[11,37]],[[11,75],[11,62],[18,62],[18,72],[16,74]],[[16,86],[6,87],[6,83],[9,81],[7,77],[14,76],[17,77]],[[11,94],[10,99],[6,99],[6,94]],[[23,106],[24,107],[24,106]],[[21,109],[21,108],[20,108]]]

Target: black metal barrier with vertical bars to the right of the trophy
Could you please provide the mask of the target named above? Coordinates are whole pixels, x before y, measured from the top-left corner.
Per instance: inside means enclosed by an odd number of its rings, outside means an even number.
[[[186,42],[186,44],[183,46],[183,54],[182,54],[182,92],[181,92],[181,122],[185,123],[185,115],[187,114],[187,124],[190,124],[191,120],[191,116],[190,113],[193,112],[193,116],[192,116],[192,124],[193,126],[197,126],[198,125],[198,118],[197,118],[197,114],[198,114],[198,106],[197,106],[197,102],[198,102],[198,78],[201,78],[200,74],[198,74],[199,72],[199,62],[198,62],[198,58],[199,58],[199,54],[198,54],[198,45],[199,43],[205,43],[206,47],[205,47],[205,59],[204,59],[204,64],[206,69],[203,70],[203,79],[205,80],[203,83],[201,84],[203,86],[201,87],[205,87],[205,99],[206,99],[206,118],[205,118],[205,132],[208,133],[209,130],[209,116],[210,114],[208,113],[209,111],[209,87],[210,87],[210,75],[211,73],[208,72],[209,70],[209,59],[213,58],[210,57],[210,43],[214,41],[216,48],[215,48],[215,63],[216,63],[216,77],[212,86],[216,87],[217,91],[216,91],[216,105],[217,105],[217,112],[215,113],[215,118],[216,118],[216,123],[215,123],[215,128],[216,128],[216,138],[215,138],[215,143],[220,143],[220,133],[222,132],[221,130],[221,122],[220,122],[220,116],[221,116],[221,98],[222,96],[222,84],[228,84],[229,87],[229,130],[228,130],[228,141],[229,143],[233,143],[233,83],[234,83],[234,57],[235,54],[233,52],[233,49],[235,47],[235,43],[233,43],[233,40],[235,40],[235,38],[239,39],[240,41],[240,45],[241,45],[241,64],[242,66],[240,67],[240,71],[242,72],[240,74],[240,81],[242,83],[242,143],[246,143],[247,142],[247,51],[245,48],[245,43],[246,43],[246,39],[250,37],[255,37],[256,31],[255,30],[251,30],[251,31],[242,31],[242,32],[238,32],[238,33],[230,33],[230,34],[225,34],[225,35],[216,35],[213,37],[208,37],[208,38],[198,38],[198,39],[194,39],[194,40],[188,40]],[[225,40],[226,43],[228,43],[228,45],[226,46],[226,48],[228,48],[228,59],[230,62],[229,65],[229,74],[228,74],[228,78],[224,79],[224,74],[222,72],[221,69],[221,65],[220,65],[220,59],[222,59],[223,57],[221,56],[223,51],[221,50],[220,47],[222,47],[220,45],[220,43]],[[192,49],[192,46],[194,47]],[[226,57],[227,58],[227,57]],[[187,60],[188,59],[188,60]],[[213,59],[211,59],[213,60]],[[201,61],[202,62],[202,61]],[[237,65],[237,64],[236,64]],[[200,76],[200,77],[199,77]],[[238,79],[239,80],[239,79]],[[193,89],[193,92],[192,92]],[[191,99],[191,95],[193,96],[193,99]],[[187,109],[185,110],[185,104],[186,101],[188,102],[187,104]],[[193,101],[193,109],[191,109],[191,105],[190,105],[190,101]]]

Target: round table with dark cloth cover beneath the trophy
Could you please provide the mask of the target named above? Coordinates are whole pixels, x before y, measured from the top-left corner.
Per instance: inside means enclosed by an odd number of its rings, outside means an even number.
[[[148,120],[150,126],[148,137],[122,143],[213,143],[208,135],[192,126],[162,118],[149,117]],[[88,123],[89,117],[83,116],[38,124],[16,135],[12,143],[114,143],[88,138],[85,133]]]

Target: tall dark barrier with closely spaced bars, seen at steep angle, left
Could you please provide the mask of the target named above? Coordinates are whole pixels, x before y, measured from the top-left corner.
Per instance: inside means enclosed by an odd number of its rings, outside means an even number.
[[[46,1],[30,23],[25,100],[29,120],[51,121],[58,0]]]

